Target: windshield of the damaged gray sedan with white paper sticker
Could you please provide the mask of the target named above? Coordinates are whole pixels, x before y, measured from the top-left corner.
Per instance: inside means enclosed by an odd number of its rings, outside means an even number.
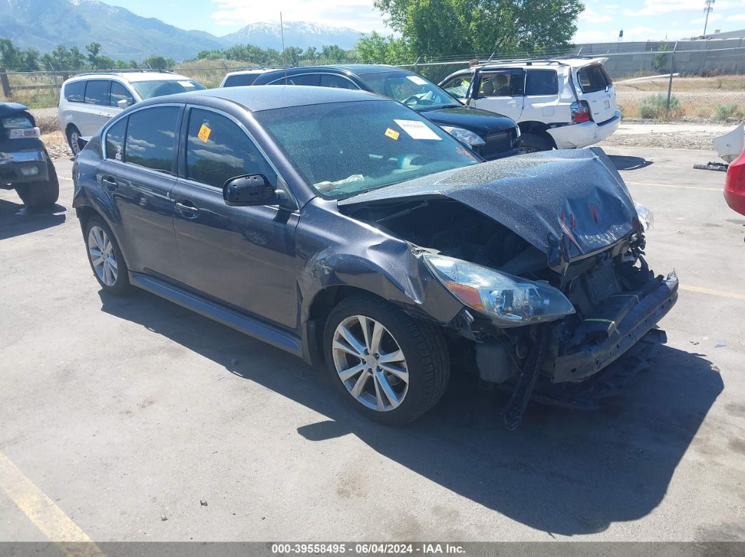
[[[387,100],[292,106],[254,117],[326,199],[481,160],[434,123]]]

